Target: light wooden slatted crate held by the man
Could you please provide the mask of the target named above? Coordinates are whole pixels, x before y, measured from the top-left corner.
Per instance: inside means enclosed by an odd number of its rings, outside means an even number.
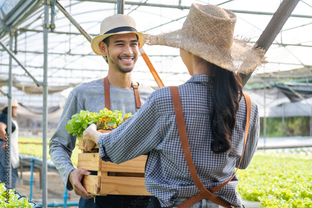
[[[108,131],[99,130],[101,133]],[[84,176],[82,186],[93,195],[138,195],[152,196],[144,184],[144,173],[147,155],[141,155],[132,160],[116,165],[102,161],[99,152],[83,150],[82,139],[79,139],[78,168],[97,171],[97,175]],[[95,145],[94,149],[98,148]],[[108,174],[109,173],[109,174]]]

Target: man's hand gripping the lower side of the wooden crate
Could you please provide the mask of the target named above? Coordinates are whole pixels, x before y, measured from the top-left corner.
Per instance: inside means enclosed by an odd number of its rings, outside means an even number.
[[[71,185],[74,188],[75,194],[83,197],[84,199],[91,199],[91,198],[95,197],[95,195],[89,194],[81,184],[82,177],[84,175],[87,176],[90,174],[91,174],[91,172],[89,172],[83,168],[74,169],[69,174],[69,181],[71,181]]]

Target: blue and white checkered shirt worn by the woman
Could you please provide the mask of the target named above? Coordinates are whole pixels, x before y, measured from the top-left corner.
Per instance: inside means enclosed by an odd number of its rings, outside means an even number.
[[[207,101],[208,80],[208,75],[196,74],[178,86],[178,89],[193,162],[203,185],[210,189],[227,181],[238,165],[244,144],[246,103],[242,97],[233,129],[234,152],[212,152],[210,116],[213,87],[210,87]],[[245,169],[250,163],[259,138],[258,108],[253,100],[251,104],[250,127],[240,169]],[[111,133],[102,134],[98,146],[102,160],[116,164],[150,152],[145,170],[145,186],[158,198],[162,207],[171,206],[177,198],[199,193],[183,155],[168,87],[153,92],[133,117]],[[238,178],[235,176],[214,194],[241,207],[237,184]]]

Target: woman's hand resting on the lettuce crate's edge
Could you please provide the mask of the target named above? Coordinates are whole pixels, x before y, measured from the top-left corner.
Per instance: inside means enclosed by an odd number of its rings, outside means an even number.
[[[95,146],[95,144],[97,144],[100,135],[101,133],[96,131],[96,125],[94,123],[86,128],[82,137],[82,145],[84,150],[91,152],[92,148]]]

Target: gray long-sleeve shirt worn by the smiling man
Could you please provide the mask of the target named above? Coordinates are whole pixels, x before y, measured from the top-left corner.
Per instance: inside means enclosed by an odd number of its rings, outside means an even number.
[[[148,86],[139,84],[141,104],[154,90]],[[133,89],[124,89],[110,86],[111,110],[121,110],[126,113],[136,113],[135,96]],[[69,173],[75,169],[71,162],[72,150],[75,148],[76,135],[68,134],[66,125],[71,116],[80,110],[100,112],[105,108],[104,83],[101,80],[93,80],[76,86],[66,99],[60,122],[49,142],[49,154],[52,162],[66,184],[68,190],[73,190],[68,180]]]

